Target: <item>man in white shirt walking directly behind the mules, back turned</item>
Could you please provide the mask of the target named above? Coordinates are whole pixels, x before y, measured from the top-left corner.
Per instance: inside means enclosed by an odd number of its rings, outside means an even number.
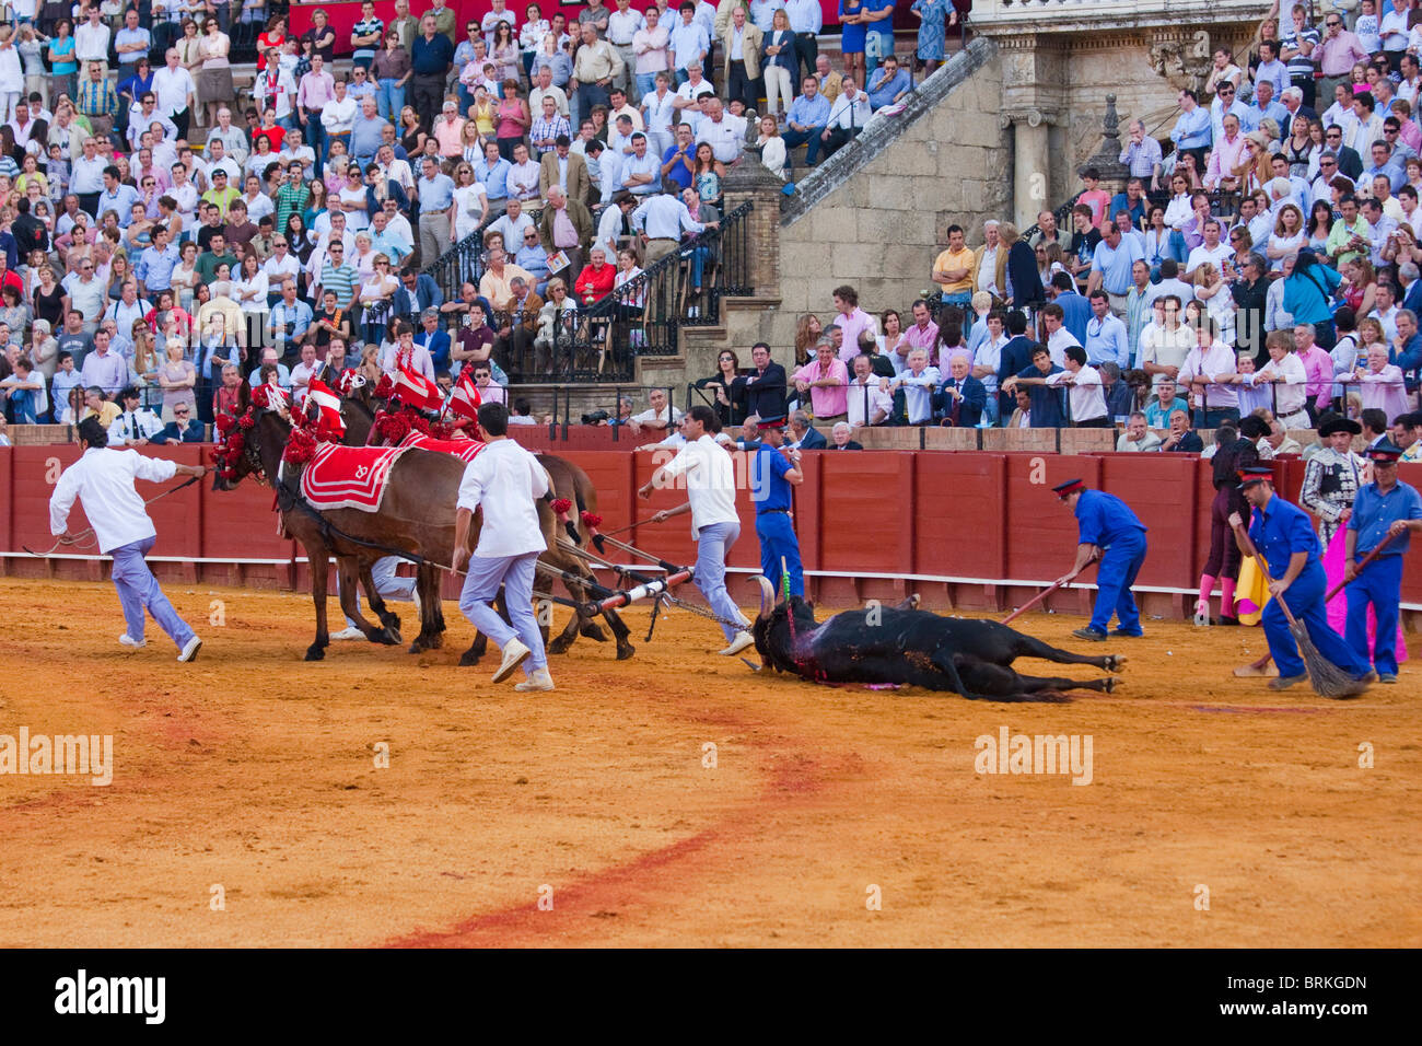
[[[485,447],[464,470],[454,525],[454,568],[469,572],[459,593],[459,609],[474,626],[498,643],[503,662],[493,673],[502,683],[525,662],[528,679],[515,690],[552,690],[547,655],[533,618],[533,564],[547,551],[538,519],[536,498],[547,494],[547,472],[538,458],[508,438],[509,411],[502,403],[479,407]],[[479,546],[469,555],[474,511],[483,508]],[[513,626],[489,606],[503,585],[505,606]]]

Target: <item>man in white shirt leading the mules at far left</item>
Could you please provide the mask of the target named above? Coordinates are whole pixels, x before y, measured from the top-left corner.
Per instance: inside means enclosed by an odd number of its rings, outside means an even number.
[[[54,485],[50,497],[50,534],[65,534],[70,509],[78,498],[94,528],[94,537],[98,538],[100,552],[114,556],[114,588],[118,589],[127,625],[118,642],[132,649],[146,645],[146,608],[178,645],[178,660],[192,660],[198,656],[202,640],[178,616],[144,562],[158,539],[158,531],[134,490],[134,480],[166,482],[179,472],[201,477],[208,471],[206,465],[179,465],[164,458],[146,458],[138,451],[109,450],[104,427],[92,417],[80,421],[78,437],[84,455],[65,468]]]

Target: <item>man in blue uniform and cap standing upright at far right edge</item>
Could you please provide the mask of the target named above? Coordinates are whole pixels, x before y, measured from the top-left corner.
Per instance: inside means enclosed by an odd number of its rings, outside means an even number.
[[[1348,566],[1348,625],[1345,638],[1352,652],[1365,662],[1368,653],[1368,606],[1378,618],[1372,648],[1372,667],[1384,683],[1398,682],[1398,605],[1402,602],[1402,556],[1412,541],[1411,531],[1422,531],[1422,494],[1416,487],[1398,481],[1402,448],[1391,440],[1368,448],[1372,482],[1358,490],[1344,537]],[[1358,561],[1394,535],[1378,558],[1364,569]],[[1293,603],[1290,603],[1293,606]]]

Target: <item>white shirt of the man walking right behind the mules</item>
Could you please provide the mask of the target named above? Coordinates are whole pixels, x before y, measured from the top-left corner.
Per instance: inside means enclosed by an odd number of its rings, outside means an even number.
[[[483,507],[474,554],[481,558],[546,552],[535,498],[547,494],[547,472],[513,440],[492,440],[465,465],[458,508]]]

